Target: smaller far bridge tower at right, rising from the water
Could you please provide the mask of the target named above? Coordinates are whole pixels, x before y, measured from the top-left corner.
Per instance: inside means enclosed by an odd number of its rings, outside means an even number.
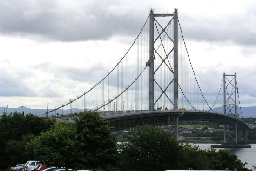
[[[236,73],[235,75],[223,74],[223,114],[239,118],[237,113],[237,103],[236,103],[236,93],[238,93],[237,83],[236,83]],[[235,138],[231,135],[237,143],[237,123],[235,126]],[[227,143],[226,139],[226,125],[224,125],[224,143]]]

